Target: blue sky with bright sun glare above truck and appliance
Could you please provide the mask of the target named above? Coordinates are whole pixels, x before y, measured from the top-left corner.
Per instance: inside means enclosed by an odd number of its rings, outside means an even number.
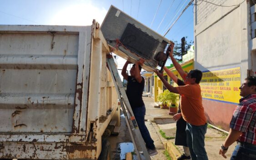
[[[110,5],[114,5],[163,35],[189,1],[0,0],[0,24],[91,25],[92,19],[96,19],[101,23]],[[156,14],[160,2],[161,5]],[[168,9],[169,12],[167,12]],[[154,19],[155,14],[156,17]],[[163,19],[165,15],[166,17]],[[188,36],[187,41],[193,40],[193,23],[193,6],[190,6],[172,27],[166,38],[180,42],[183,36]],[[120,61],[119,68],[124,63],[124,60]]]

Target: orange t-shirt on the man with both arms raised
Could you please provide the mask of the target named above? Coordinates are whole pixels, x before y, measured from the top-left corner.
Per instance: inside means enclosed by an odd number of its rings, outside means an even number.
[[[195,126],[205,125],[206,116],[202,105],[200,85],[188,84],[176,88],[181,95],[181,113],[184,120]]]

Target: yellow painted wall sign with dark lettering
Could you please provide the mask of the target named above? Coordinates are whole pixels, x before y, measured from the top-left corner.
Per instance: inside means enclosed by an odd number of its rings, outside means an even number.
[[[237,104],[241,98],[240,67],[217,71],[204,71],[200,82],[203,98]]]

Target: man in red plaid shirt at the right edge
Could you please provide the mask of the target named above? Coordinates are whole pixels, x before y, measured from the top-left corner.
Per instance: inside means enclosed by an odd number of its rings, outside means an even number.
[[[237,141],[231,160],[256,160],[256,77],[247,77],[239,89],[243,98],[233,113],[220,155],[226,158],[228,147]]]

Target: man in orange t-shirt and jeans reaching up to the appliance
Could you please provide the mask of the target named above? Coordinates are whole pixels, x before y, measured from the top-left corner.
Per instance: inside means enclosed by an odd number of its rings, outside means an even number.
[[[185,73],[181,65],[173,57],[173,47],[173,44],[170,44],[168,48],[171,61],[186,85],[173,87],[164,79],[162,73],[159,73],[157,70],[155,70],[155,73],[170,92],[181,95],[181,114],[187,122],[186,139],[192,160],[208,160],[204,142],[207,122],[202,105],[201,87],[199,85],[202,72],[195,69],[191,70],[188,74]]]

